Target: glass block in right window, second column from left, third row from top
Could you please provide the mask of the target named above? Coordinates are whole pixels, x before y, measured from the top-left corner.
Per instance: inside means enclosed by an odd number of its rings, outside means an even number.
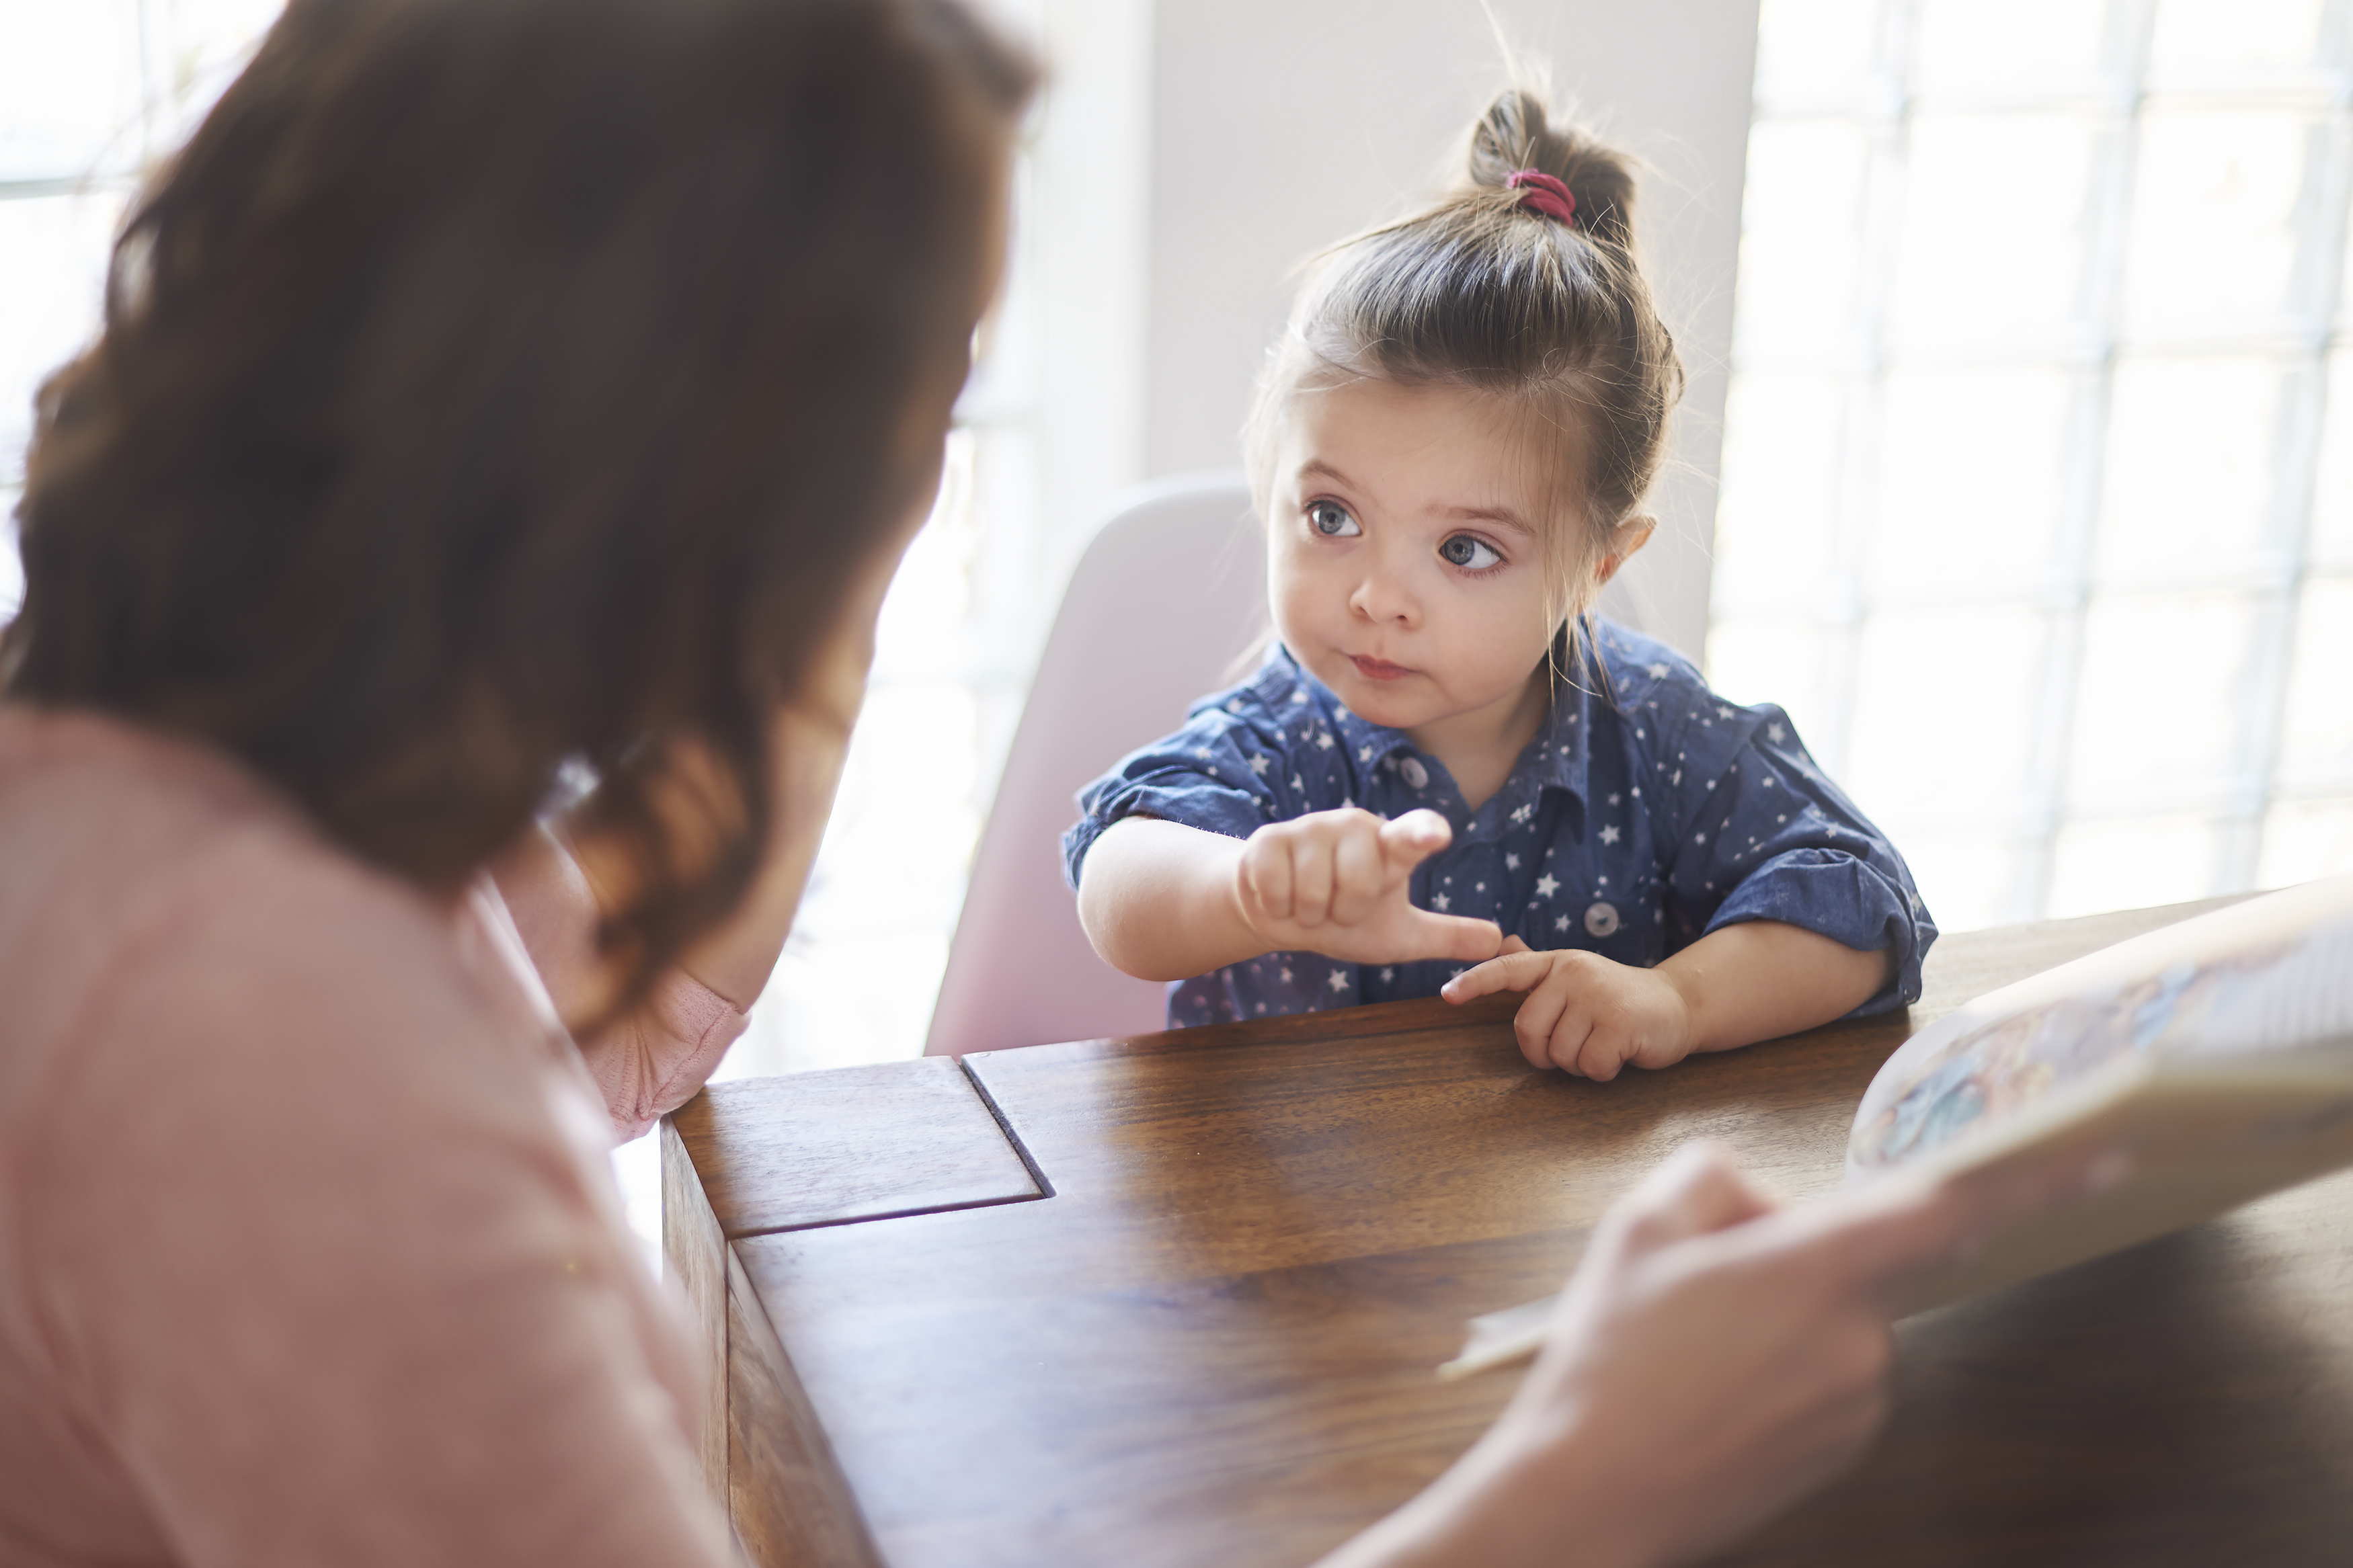
[[[1873,588],[2031,595],[2066,494],[2068,376],[1897,371],[1885,388]]]

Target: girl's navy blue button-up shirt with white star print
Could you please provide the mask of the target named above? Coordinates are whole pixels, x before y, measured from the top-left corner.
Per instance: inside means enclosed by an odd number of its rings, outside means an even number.
[[[1454,842],[1414,870],[1424,910],[1642,966],[1720,926],[1777,919],[1894,952],[1887,987],[1857,1013],[1918,1001],[1937,926],[1904,858],[1814,766],[1788,715],[1725,703],[1680,654],[1607,621],[1591,646],[1584,679],[1555,686],[1544,729],[1478,811],[1445,764],[1348,712],[1278,646],[1249,682],[1202,698],[1184,729],[1080,790],[1085,816],[1061,839],[1071,884],[1127,816],[1245,839],[1308,811],[1428,806]],[[1435,997],[1464,969],[1271,952],[1176,980],[1167,1018],[1191,1027]]]

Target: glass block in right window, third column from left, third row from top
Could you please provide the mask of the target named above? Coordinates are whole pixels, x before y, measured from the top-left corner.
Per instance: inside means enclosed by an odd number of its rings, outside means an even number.
[[[2212,581],[2273,543],[2282,367],[2125,360],[2108,411],[2104,581]]]

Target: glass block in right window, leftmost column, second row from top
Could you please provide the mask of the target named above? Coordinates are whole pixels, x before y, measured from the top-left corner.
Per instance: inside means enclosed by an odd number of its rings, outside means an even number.
[[[1739,348],[1807,360],[1854,324],[1871,139],[1833,120],[1762,122],[1748,134]]]

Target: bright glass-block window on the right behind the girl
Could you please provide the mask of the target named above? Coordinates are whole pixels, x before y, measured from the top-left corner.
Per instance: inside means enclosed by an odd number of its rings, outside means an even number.
[[[1708,665],[1946,929],[2353,867],[2353,12],[1765,0]]]

